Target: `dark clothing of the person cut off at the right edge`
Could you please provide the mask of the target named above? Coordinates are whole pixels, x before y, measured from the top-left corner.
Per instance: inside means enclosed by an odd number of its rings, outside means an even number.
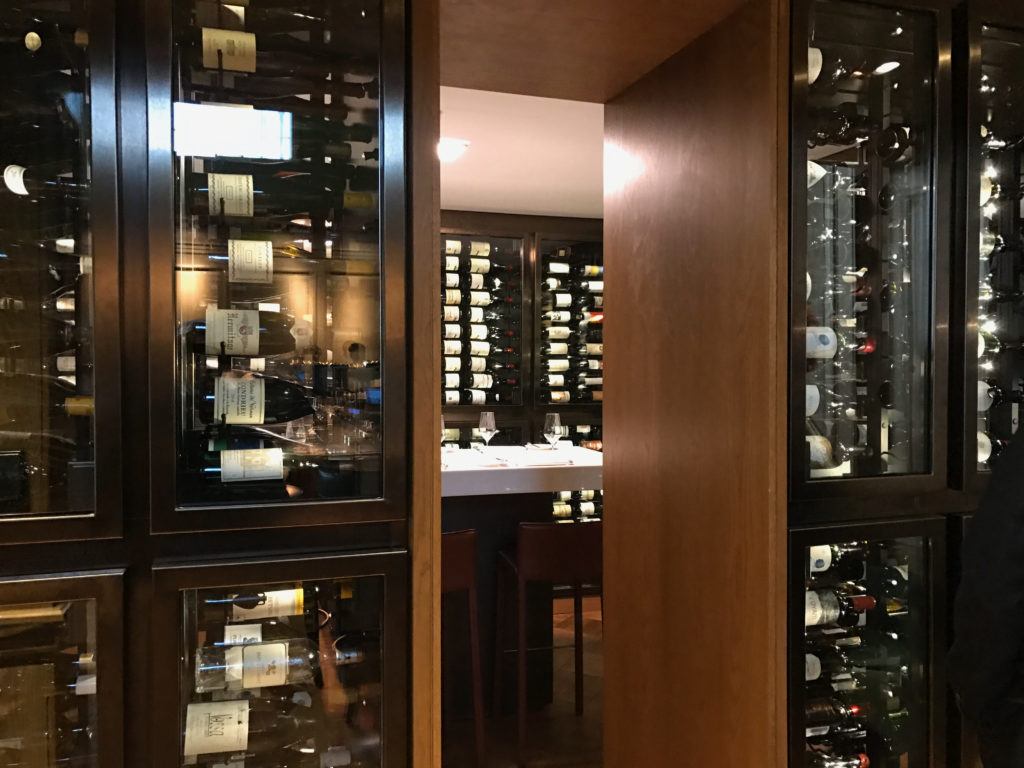
[[[953,621],[949,680],[985,768],[1024,768],[1024,439],[968,525]]]

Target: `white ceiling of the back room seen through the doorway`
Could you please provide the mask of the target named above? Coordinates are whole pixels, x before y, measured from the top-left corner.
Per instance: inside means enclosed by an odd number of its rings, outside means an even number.
[[[441,135],[441,208],[601,218],[603,104],[443,87]]]

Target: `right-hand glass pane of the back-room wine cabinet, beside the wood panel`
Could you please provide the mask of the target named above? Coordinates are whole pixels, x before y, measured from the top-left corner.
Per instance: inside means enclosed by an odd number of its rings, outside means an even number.
[[[604,396],[601,244],[542,240],[538,279],[537,401],[600,402]]]

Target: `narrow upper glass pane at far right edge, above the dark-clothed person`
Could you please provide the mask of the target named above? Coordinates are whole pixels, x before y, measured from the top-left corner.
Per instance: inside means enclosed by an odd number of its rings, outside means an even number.
[[[978,469],[985,472],[1017,431],[1024,398],[1024,282],[1021,221],[1024,33],[984,27],[980,82],[973,83],[979,237],[968,248],[978,261]]]

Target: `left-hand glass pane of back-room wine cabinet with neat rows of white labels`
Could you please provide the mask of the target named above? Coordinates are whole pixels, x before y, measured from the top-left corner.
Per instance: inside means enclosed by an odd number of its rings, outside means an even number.
[[[522,404],[522,241],[442,234],[445,406]]]

